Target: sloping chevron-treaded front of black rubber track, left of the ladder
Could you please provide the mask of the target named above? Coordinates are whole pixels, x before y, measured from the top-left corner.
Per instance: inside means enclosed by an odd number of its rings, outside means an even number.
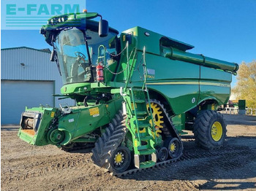
[[[91,150],[91,159],[99,167],[106,168],[108,171],[115,171],[115,166],[111,163],[113,155],[116,149],[118,149],[121,142],[127,133],[127,127],[125,125],[124,115],[121,110],[116,114],[110,122],[108,128],[105,129],[105,133],[95,143],[94,149]]]

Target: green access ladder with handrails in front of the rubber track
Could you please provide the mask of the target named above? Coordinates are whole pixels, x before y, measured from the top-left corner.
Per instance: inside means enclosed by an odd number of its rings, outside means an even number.
[[[131,72],[131,70],[128,71]],[[147,108],[147,102],[150,103],[150,101],[146,87],[145,47],[143,48],[143,71],[144,82],[141,88],[127,87],[131,78],[130,74],[127,75],[124,90],[121,88],[121,95],[124,98],[127,112],[127,128],[132,133],[136,168],[149,168],[157,163],[156,149],[154,149],[157,135],[154,128],[151,105],[148,104]]]

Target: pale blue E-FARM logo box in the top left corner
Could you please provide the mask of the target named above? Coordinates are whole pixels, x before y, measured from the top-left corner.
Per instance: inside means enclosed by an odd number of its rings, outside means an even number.
[[[55,15],[78,13],[86,8],[86,1],[1,1],[1,29],[38,30]]]

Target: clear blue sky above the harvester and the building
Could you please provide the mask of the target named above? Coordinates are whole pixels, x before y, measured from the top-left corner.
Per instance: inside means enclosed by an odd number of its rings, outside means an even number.
[[[142,26],[194,45],[189,52],[239,64],[256,60],[255,0],[87,0],[85,8],[119,32]],[[1,31],[1,48],[20,46],[50,48],[39,30]]]

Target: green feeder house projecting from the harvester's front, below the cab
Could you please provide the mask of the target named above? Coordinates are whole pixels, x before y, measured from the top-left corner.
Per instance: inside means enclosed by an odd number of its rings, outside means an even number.
[[[58,128],[64,132],[64,139],[58,145],[68,144],[70,141],[79,139],[99,127],[108,125],[111,119],[115,116],[119,109],[121,109],[122,98],[116,98],[106,104],[98,104],[94,106],[72,106],[71,113],[61,114],[56,108],[32,108],[26,109],[26,112],[40,113],[42,118],[39,123],[39,128],[34,135],[27,133],[22,127],[18,132],[18,136],[23,141],[37,146],[55,144],[48,139],[48,132],[50,125],[53,124],[53,119],[58,119],[58,125],[53,125],[53,128]],[[24,116],[26,117],[26,116]],[[22,125],[21,125],[22,126]],[[78,141],[88,142],[96,141],[96,139],[85,138]]]

